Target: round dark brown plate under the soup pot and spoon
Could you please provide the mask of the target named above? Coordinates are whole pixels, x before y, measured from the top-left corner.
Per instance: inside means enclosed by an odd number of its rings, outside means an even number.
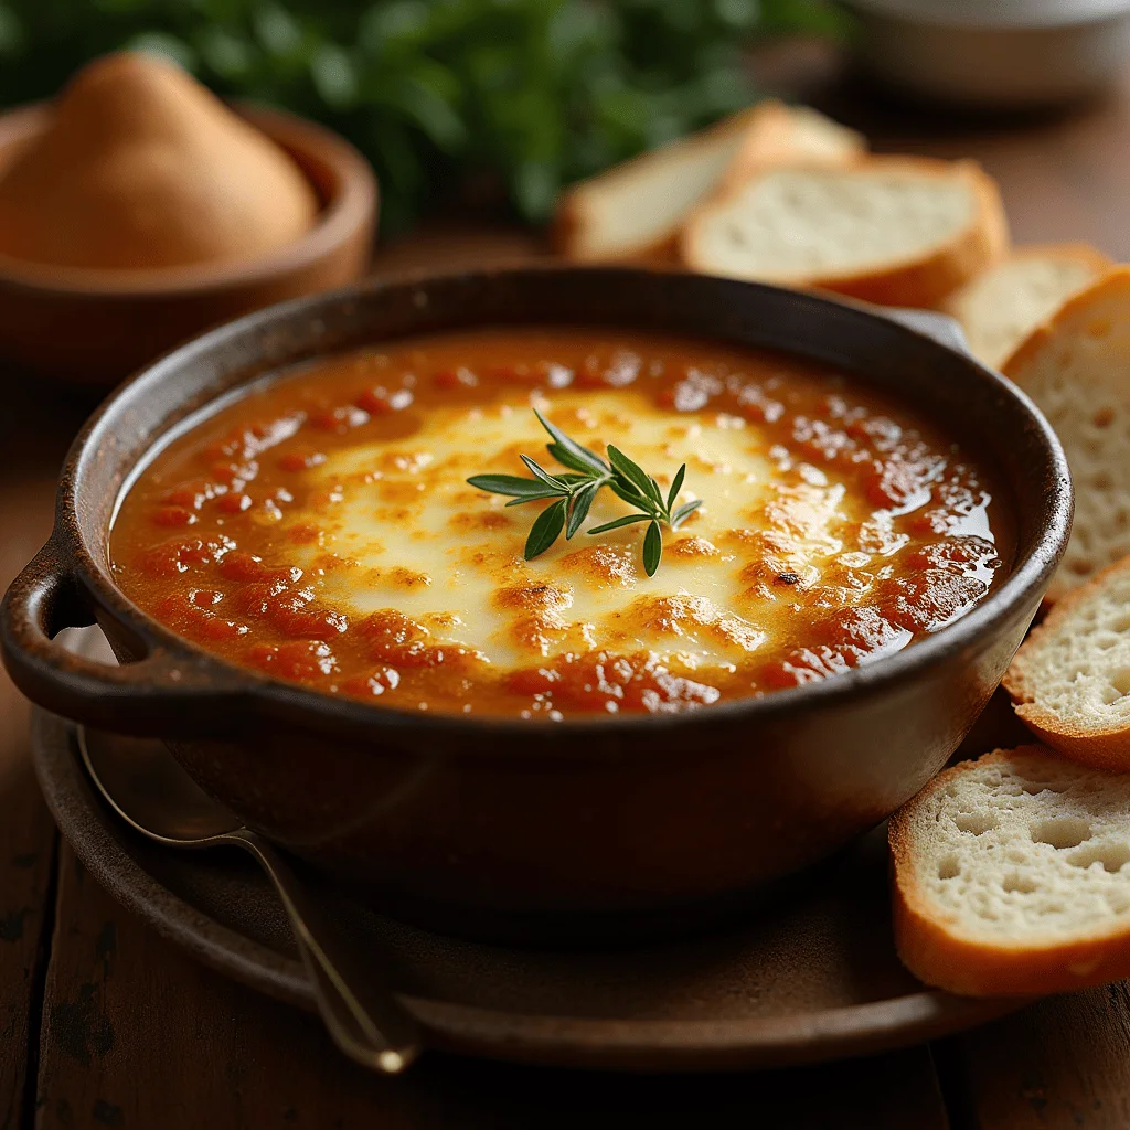
[[[33,736],[47,803],[95,879],[205,964],[313,1007],[282,910],[253,862],[129,832],[94,794],[71,724],[37,712]],[[1018,1007],[928,990],[899,965],[886,871],[880,829],[741,925],[600,951],[488,946],[327,899],[388,966],[432,1046],[562,1067],[749,1069],[914,1044]]]

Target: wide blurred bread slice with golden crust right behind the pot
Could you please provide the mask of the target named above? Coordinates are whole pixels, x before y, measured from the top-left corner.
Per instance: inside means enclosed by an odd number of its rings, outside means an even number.
[[[930,306],[1005,253],[1008,225],[973,162],[872,157],[759,173],[699,209],[680,247],[707,275]]]

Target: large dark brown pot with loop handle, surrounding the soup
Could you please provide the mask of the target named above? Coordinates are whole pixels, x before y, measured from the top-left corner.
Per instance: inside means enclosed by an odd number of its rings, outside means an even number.
[[[58,714],[166,739],[251,826],[402,916],[557,941],[705,921],[826,858],[938,772],[999,684],[1067,544],[1071,487],[1046,421],[955,347],[948,320],[899,316],[615,268],[371,284],[253,314],[139,374],[87,424],[55,530],[0,609],[5,661]],[[955,624],[824,683],[556,725],[394,711],[272,680],[177,637],[115,586],[115,499],[190,414],[331,350],[522,322],[705,334],[858,373],[996,468],[1017,527],[1003,580]],[[124,666],[52,640],[93,621]]]

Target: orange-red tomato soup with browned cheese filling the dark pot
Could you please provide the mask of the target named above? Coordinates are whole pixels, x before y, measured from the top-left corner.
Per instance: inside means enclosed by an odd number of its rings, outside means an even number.
[[[590,533],[641,513],[602,481],[573,536],[528,559],[553,492],[583,485],[534,409],[606,479],[623,450],[672,522]],[[484,475],[531,486],[468,483]],[[951,436],[831,368],[507,328],[321,359],[191,420],[121,499],[110,556],[140,608],[241,667],[560,721],[764,695],[912,645],[1009,559],[996,496]]]

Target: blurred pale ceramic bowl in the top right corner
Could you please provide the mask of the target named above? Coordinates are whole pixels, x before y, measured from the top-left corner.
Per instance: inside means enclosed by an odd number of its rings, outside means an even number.
[[[1028,110],[1094,94],[1130,60],[1128,0],[843,0],[864,64],[970,107]]]

